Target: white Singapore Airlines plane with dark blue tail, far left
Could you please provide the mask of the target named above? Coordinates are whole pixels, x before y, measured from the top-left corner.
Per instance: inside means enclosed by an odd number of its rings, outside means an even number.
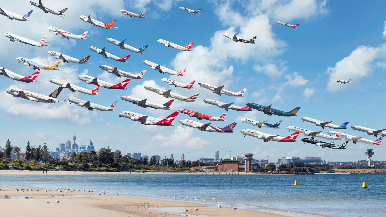
[[[60,92],[62,92],[63,87],[59,86],[54,92],[52,92],[48,96],[41,95],[39,93],[29,92],[27,90],[22,90],[19,88],[8,88],[7,93],[13,95],[14,97],[20,97],[26,100],[31,100],[35,102],[63,102],[63,100],[57,100],[56,98],[59,96]],[[66,102],[66,100],[64,100]]]

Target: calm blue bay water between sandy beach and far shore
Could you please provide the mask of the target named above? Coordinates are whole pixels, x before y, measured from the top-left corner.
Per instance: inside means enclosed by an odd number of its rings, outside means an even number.
[[[295,180],[299,185],[293,185]],[[120,195],[167,200],[184,197],[182,200],[187,202],[238,205],[246,209],[269,209],[271,212],[279,210],[288,216],[312,214],[340,217],[386,217],[385,180],[386,174],[0,175],[0,185],[3,186],[47,189],[71,187],[76,190],[105,191],[114,195],[118,192]],[[366,181],[368,188],[362,188],[363,181]],[[186,197],[197,197],[198,200]]]

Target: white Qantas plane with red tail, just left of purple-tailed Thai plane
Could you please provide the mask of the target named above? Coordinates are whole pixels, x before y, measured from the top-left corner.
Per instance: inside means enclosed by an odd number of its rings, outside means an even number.
[[[123,111],[119,113],[119,117],[129,118],[130,120],[141,122],[144,125],[157,125],[157,126],[174,126],[171,122],[177,117],[179,112],[173,112],[171,115],[164,119],[157,119],[154,117],[141,115],[135,112]]]

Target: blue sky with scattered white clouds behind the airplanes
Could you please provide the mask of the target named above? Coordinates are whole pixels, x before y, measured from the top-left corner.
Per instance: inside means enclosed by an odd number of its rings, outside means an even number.
[[[37,81],[44,83],[24,84],[4,76],[0,77],[0,117],[3,128],[0,132],[0,146],[7,139],[24,151],[25,144],[47,143],[54,151],[59,142],[70,140],[75,133],[78,144],[87,144],[91,139],[96,148],[110,146],[123,153],[140,152],[146,155],[179,156],[186,152],[189,158],[214,157],[220,151],[220,157],[243,156],[252,152],[255,158],[270,161],[284,156],[313,156],[330,161],[355,161],[365,159],[364,152],[374,149],[374,159],[385,159],[385,145],[371,146],[349,142],[347,150],[322,149],[312,144],[304,144],[298,136],[298,142],[263,142],[253,137],[243,137],[242,129],[254,129],[268,134],[288,136],[288,125],[302,127],[311,131],[320,131],[311,123],[303,122],[300,117],[311,117],[323,121],[333,121],[340,125],[349,122],[348,127],[360,125],[374,129],[383,129],[385,118],[382,107],[384,89],[383,72],[386,67],[385,54],[385,20],[384,12],[379,5],[382,2],[326,2],[326,1],[141,1],[131,3],[114,1],[103,5],[102,0],[84,1],[81,7],[75,1],[56,2],[43,1],[48,7],[55,9],[69,8],[61,18],[45,14],[33,7],[28,1],[22,6],[4,3],[3,9],[24,15],[34,10],[29,19],[35,22],[8,20],[2,16],[0,29],[39,41],[47,35],[46,42],[53,47],[32,47],[19,42],[11,42],[5,36],[0,37],[0,66],[21,75],[31,75],[35,71],[31,67],[18,64],[16,58],[34,59],[52,65],[56,59],[47,54],[53,50],[75,58],[91,55],[89,63],[62,63],[63,70],[41,70]],[[103,5],[103,6],[102,6]],[[179,10],[178,7],[191,9],[201,8],[200,16]],[[146,11],[146,17],[139,19],[120,13],[121,9],[137,14]],[[93,19],[109,23],[117,20],[114,26],[119,30],[102,29],[85,23],[78,18],[80,15],[91,15]],[[276,21],[300,24],[296,29],[289,29]],[[47,27],[82,34],[89,31],[92,40],[61,39],[60,36],[48,32]],[[236,43],[222,36],[223,33],[235,34],[250,39],[257,36],[256,44]],[[119,49],[106,41],[107,37],[117,40],[127,39],[126,44],[134,47],[149,45],[146,54],[137,54]],[[185,52],[165,47],[157,42],[165,39],[186,46],[194,42],[194,51]],[[131,55],[129,63],[120,63],[105,59],[90,51],[88,46],[95,46],[119,57]],[[188,68],[187,76],[168,76],[159,74],[145,66],[142,61],[149,60],[174,70]],[[68,103],[37,103],[21,98],[14,98],[5,90],[9,86],[17,86],[24,90],[48,95],[56,88],[49,82],[50,78],[71,82],[75,85],[92,89],[95,86],[80,81],[76,76],[88,74],[112,83],[119,83],[118,78],[98,67],[101,64],[118,66],[119,69],[139,73],[147,70],[143,80],[131,80],[130,90],[101,89],[99,96],[72,93],[67,89],[59,95],[59,99],[76,97],[101,105],[109,105],[118,101],[117,112],[88,111],[86,108]],[[248,88],[245,97],[234,98],[226,95],[221,97],[211,91],[199,88],[182,90],[162,83],[161,78],[171,78],[181,83],[192,80],[225,85],[230,91],[237,92]],[[336,80],[349,80],[349,85],[339,85]],[[173,92],[187,97],[200,93],[197,103],[175,100],[171,105],[174,110],[155,110],[140,108],[132,103],[120,100],[121,95],[137,98],[149,98],[152,102],[165,103],[169,99],[143,88],[144,85],[172,89]],[[121,111],[132,111],[152,117],[166,117],[179,108],[186,108],[201,113],[218,116],[224,110],[213,105],[205,105],[204,98],[221,102],[235,102],[244,107],[245,103],[254,102],[262,105],[273,104],[272,107],[289,111],[301,107],[298,117],[268,116],[262,112],[237,112],[229,110],[224,122],[213,122],[212,125],[225,127],[238,122],[235,132],[230,134],[201,132],[185,126],[144,126],[139,122],[119,118]],[[241,118],[269,120],[276,123],[283,120],[281,129],[258,129],[249,124],[241,124]],[[179,120],[188,119],[187,115],[179,114]],[[207,121],[201,121],[204,124]],[[325,133],[329,130],[325,129]],[[346,134],[364,136],[363,132],[346,129]],[[367,136],[367,139],[374,139]],[[344,141],[337,141],[341,144]],[[3,144],[3,145],[1,145]]]

